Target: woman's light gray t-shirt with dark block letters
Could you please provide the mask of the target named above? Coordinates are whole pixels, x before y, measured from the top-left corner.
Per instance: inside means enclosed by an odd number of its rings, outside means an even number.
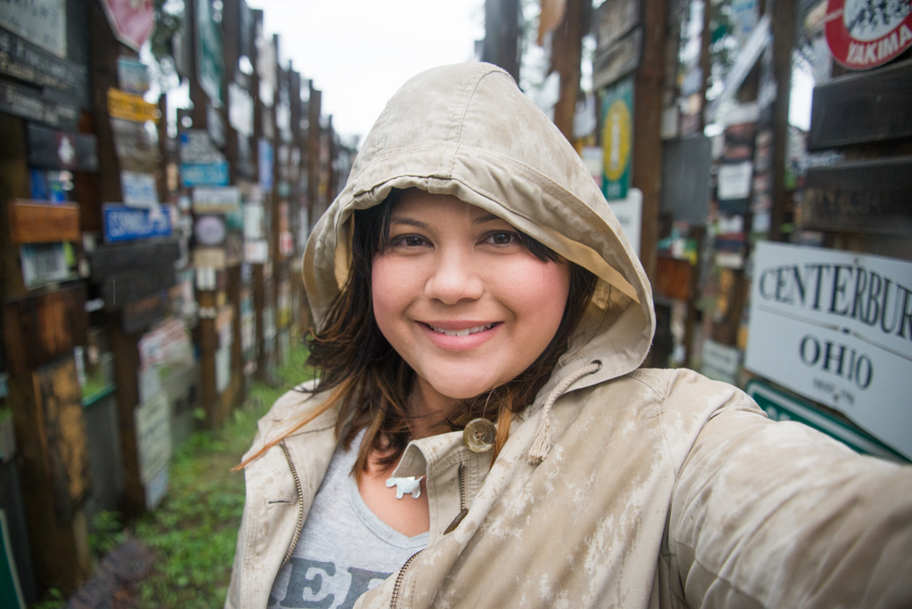
[[[406,537],[361,499],[351,468],[363,437],[362,430],[350,450],[339,446],[333,453],[301,541],[275,576],[270,607],[348,609],[428,545],[428,533]],[[413,500],[406,495],[401,501]]]

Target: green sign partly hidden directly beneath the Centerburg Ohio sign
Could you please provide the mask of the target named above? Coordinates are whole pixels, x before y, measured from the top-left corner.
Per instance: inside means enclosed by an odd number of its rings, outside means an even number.
[[[868,436],[864,431],[846,425],[838,418],[826,414],[819,408],[814,408],[809,402],[797,397],[792,397],[784,392],[774,389],[762,381],[751,379],[747,384],[747,394],[766,411],[767,416],[774,421],[798,421],[824,432],[831,438],[838,439],[855,452],[871,455],[881,459],[889,459],[900,463],[907,463],[902,455]]]

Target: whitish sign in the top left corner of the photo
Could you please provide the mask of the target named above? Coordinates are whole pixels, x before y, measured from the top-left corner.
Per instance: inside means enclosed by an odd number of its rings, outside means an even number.
[[[65,0],[0,2],[0,24],[57,57],[67,57]]]

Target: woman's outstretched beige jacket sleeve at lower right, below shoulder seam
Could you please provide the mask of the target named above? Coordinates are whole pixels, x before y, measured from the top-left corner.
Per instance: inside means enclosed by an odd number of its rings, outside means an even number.
[[[737,392],[679,470],[668,555],[690,607],[912,606],[912,467]]]

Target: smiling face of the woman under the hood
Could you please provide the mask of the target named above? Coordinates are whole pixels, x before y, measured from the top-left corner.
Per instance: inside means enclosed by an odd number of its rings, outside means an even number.
[[[393,207],[371,279],[380,332],[424,401],[442,404],[530,366],[560,325],[569,283],[567,264],[536,258],[509,222],[419,190]]]

